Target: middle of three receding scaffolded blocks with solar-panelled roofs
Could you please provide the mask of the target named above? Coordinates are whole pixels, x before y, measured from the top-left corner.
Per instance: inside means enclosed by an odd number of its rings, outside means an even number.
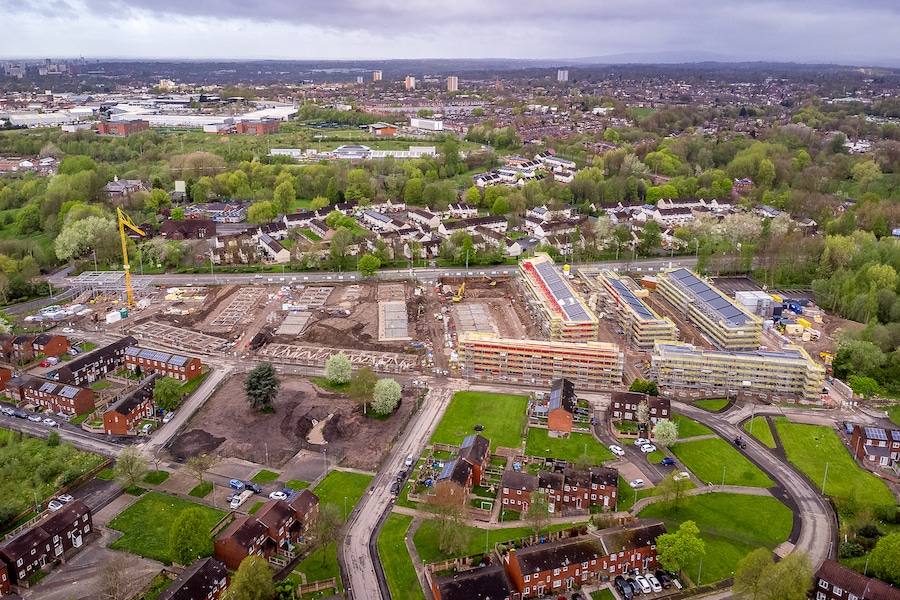
[[[628,343],[642,350],[650,350],[655,342],[677,339],[678,329],[672,319],[657,315],[640,299],[640,291],[632,289],[627,281],[608,270],[601,271],[597,279],[607,310],[615,315]]]

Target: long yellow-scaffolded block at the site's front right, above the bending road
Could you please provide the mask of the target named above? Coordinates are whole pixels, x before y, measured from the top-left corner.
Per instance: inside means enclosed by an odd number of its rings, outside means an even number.
[[[650,372],[660,387],[669,390],[754,393],[809,401],[820,399],[825,379],[825,367],[813,362],[800,346],[726,352],[661,342],[653,348]]]

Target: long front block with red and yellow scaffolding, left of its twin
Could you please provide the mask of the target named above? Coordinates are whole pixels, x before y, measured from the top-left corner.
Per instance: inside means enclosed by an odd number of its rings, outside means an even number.
[[[615,344],[504,339],[492,333],[459,336],[463,377],[550,385],[565,378],[578,388],[610,389],[622,385],[624,357]]]

